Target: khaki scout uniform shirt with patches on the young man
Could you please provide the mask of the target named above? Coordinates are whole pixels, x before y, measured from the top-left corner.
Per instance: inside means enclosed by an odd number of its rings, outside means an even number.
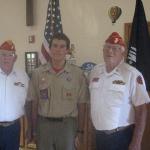
[[[50,64],[32,74],[28,99],[38,100],[38,114],[44,117],[76,117],[77,103],[88,99],[88,86],[81,69],[67,64],[55,73]]]

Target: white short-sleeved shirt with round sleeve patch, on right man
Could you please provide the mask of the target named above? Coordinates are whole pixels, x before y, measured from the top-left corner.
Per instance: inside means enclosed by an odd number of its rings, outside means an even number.
[[[90,74],[91,117],[97,130],[133,124],[134,106],[150,101],[142,74],[126,63],[107,73],[97,65]]]

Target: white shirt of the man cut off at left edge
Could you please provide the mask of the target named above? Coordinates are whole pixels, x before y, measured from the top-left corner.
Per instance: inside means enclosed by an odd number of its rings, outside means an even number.
[[[27,88],[25,72],[13,70],[7,76],[0,69],[0,122],[13,121],[24,114]]]

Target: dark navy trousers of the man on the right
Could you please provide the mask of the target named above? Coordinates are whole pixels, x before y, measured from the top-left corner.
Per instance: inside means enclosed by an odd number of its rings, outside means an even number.
[[[112,134],[106,134],[96,130],[96,149],[97,150],[128,150],[132,139],[134,127],[128,127],[124,130]]]

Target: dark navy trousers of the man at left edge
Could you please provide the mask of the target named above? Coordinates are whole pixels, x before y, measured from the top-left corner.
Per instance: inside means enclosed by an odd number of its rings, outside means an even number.
[[[19,150],[20,122],[3,127],[0,126],[0,150]]]

